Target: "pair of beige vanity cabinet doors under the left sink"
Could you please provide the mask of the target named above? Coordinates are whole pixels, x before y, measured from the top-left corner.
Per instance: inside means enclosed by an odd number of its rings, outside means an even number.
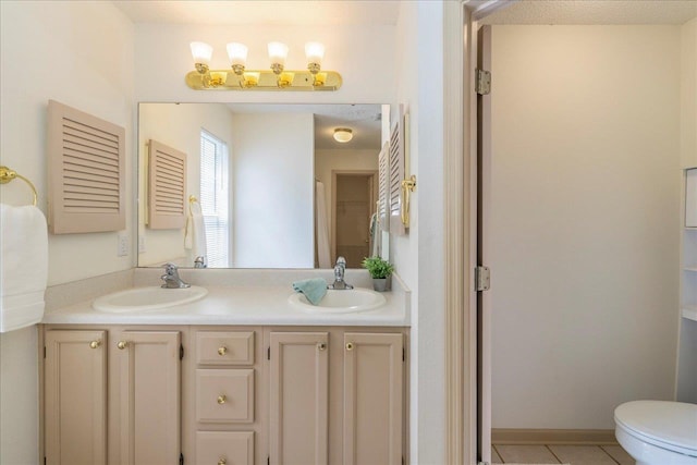
[[[179,331],[44,333],[47,464],[179,463]]]

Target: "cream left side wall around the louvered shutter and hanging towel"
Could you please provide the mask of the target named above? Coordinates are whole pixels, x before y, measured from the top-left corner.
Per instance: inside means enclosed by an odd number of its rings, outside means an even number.
[[[134,147],[133,24],[110,2],[0,2],[1,164],[30,179],[47,211],[46,112],[49,99],[126,130],[126,169]],[[126,180],[126,231],[133,235],[133,191]],[[26,204],[21,182],[2,201]],[[49,285],[129,269],[117,257],[117,232],[49,236]],[[37,464],[36,327],[0,335],[0,463]]]

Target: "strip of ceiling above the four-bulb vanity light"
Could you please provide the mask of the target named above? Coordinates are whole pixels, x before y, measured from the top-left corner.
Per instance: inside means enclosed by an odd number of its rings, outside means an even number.
[[[113,0],[134,23],[204,25],[395,25],[394,0]]]

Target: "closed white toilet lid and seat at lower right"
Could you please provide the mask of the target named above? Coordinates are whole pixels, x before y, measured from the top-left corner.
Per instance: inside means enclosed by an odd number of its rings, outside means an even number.
[[[639,441],[697,457],[697,405],[634,401],[614,411],[617,427]]]

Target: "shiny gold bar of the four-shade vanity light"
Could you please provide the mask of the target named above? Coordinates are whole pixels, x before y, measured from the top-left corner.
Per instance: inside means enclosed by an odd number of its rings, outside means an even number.
[[[186,74],[186,85],[195,90],[338,90],[341,74],[335,71],[273,71],[245,70],[241,75],[232,70],[211,70],[207,73],[192,71]]]

